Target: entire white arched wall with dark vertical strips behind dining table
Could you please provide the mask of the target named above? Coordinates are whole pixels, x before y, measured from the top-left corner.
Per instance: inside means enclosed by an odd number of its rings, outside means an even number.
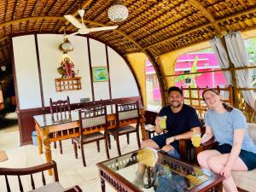
[[[56,34],[38,34],[37,37],[44,105],[49,106],[50,97],[55,101],[69,96],[71,103],[79,102],[80,98],[84,97],[90,97],[92,100],[87,38],[69,38],[74,50],[68,55],[73,60],[75,71],[79,69],[77,76],[82,77],[82,90],[56,92],[55,78],[61,78],[57,67],[60,67],[61,63],[62,53],[59,45],[63,42],[63,37]],[[13,47],[20,109],[42,107],[34,35],[13,38]],[[107,67],[105,44],[90,39],[90,58],[92,67]],[[112,97],[139,96],[136,81],[122,57],[108,47],[108,58]],[[93,83],[93,87],[96,100],[109,99],[108,82]]]

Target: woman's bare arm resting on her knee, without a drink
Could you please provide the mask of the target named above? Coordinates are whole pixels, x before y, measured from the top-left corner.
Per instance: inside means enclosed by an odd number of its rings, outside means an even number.
[[[220,174],[224,175],[224,177],[230,177],[232,166],[240,154],[241,143],[243,141],[243,137],[245,136],[245,133],[246,133],[246,129],[242,129],[242,128],[236,129],[234,131],[234,142],[233,142],[233,146],[232,146],[228,161],[220,172]]]

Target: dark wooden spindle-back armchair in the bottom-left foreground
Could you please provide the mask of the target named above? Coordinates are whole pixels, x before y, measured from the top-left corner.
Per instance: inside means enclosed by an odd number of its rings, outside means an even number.
[[[54,181],[55,181],[54,183],[49,183],[49,184],[45,183],[44,171],[48,169],[54,170]],[[37,172],[42,172],[43,186],[36,189],[35,181],[32,174]],[[29,192],[46,192],[46,191],[47,192],[63,192],[63,191],[64,192],[80,192],[82,191],[82,189],[80,189],[79,186],[77,185],[69,189],[63,189],[63,187],[59,183],[57,165],[54,160],[39,166],[32,166],[27,168],[0,168],[0,176],[5,177],[6,189],[8,192],[11,192],[11,184],[9,183],[8,176],[18,177],[20,192],[23,192],[24,189],[21,183],[20,176],[24,176],[24,175],[30,175],[32,190],[30,190]],[[14,178],[12,177],[11,179],[13,180]],[[1,188],[3,189],[3,187]],[[17,190],[14,190],[14,191],[17,191]]]

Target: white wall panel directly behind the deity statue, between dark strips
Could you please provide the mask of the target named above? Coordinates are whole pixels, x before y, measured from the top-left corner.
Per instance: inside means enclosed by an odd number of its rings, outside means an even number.
[[[38,49],[42,74],[42,83],[44,90],[44,104],[49,106],[49,98],[53,101],[58,99],[70,98],[70,102],[80,102],[80,98],[90,97],[90,67],[88,61],[88,50],[86,38],[73,36],[69,38],[70,42],[74,45],[74,50],[71,52],[70,57],[74,63],[74,69],[79,69],[78,77],[82,77],[82,90],[70,90],[63,92],[55,91],[55,78],[61,78],[57,72],[57,68],[61,63],[61,50],[58,49],[62,43],[62,35],[41,34],[38,35]],[[55,49],[52,49],[55,48]]]

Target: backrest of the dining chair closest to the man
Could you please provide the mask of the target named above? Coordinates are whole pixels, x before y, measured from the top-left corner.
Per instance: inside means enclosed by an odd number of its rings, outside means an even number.
[[[138,102],[130,103],[117,103],[115,105],[115,111],[117,115],[117,125],[129,125],[133,123],[139,123],[139,108]]]

